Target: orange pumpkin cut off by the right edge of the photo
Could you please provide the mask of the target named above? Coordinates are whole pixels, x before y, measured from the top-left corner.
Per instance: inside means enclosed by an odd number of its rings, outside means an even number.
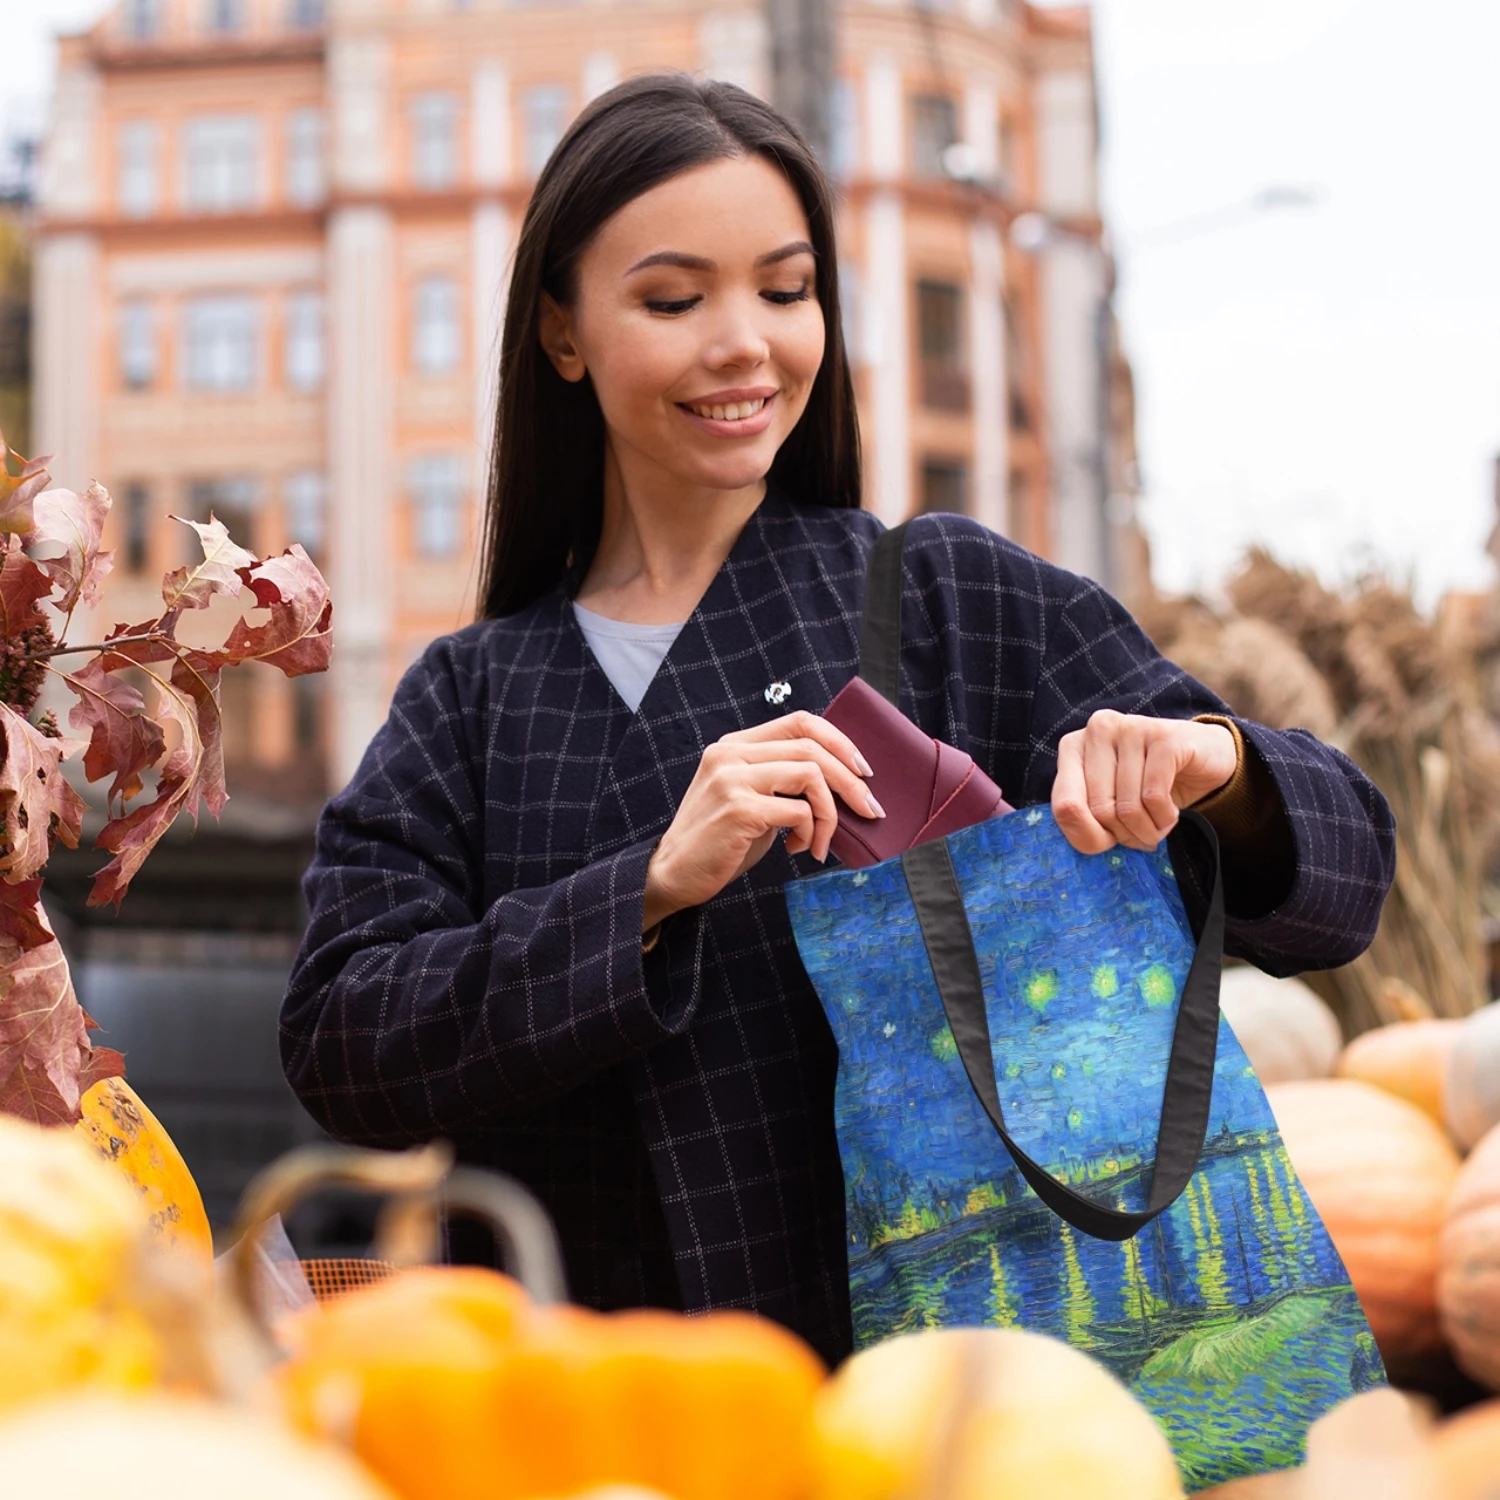
[[[1442,1256],[1437,1296],[1454,1359],[1500,1390],[1500,1126],[1458,1173]]]

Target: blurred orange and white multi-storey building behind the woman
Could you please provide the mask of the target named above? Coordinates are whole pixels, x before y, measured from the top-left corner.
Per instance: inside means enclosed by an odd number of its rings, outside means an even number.
[[[231,788],[315,804],[470,618],[506,268],[568,120],[660,68],[766,92],[766,56],[744,0],[122,0],[63,39],[33,446],[116,495],[100,622],[154,614],[168,512],[333,584],[326,682],[228,675]],[[846,0],[830,154],[867,502],[1132,592],[1086,12]]]

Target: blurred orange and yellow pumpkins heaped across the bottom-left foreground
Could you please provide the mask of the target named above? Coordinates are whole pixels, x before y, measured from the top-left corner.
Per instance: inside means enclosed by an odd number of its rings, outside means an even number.
[[[0,1116],[6,1496],[1182,1496],[1130,1392],[1018,1330],[912,1334],[830,1377],[750,1314],[598,1314],[418,1266],[282,1317],[280,1358],[246,1359],[190,1178],[138,1100],[114,1106],[78,1131]]]

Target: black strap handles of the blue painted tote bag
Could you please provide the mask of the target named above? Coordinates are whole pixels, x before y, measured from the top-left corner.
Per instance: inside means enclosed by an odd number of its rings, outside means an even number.
[[[902,657],[902,543],[906,525],[886,531],[874,544],[866,582],[864,620],[860,630],[860,675],[892,704],[900,684]],[[1208,915],[1198,933],[1197,951],[1188,968],[1172,1034],[1172,1056],[1162,1084],[1156,1160],[1146,1208],[1132,1212],[1112,1209],[1059,1182],[1029,1156],[1005,1128],[994,1060],[990,1053],[990,1023],[984,1010],[984,981],[974,950],[969,914],[952,868],[948,843],[934,838],[902,855],[906,886],[916,908],[927,962],[969,1076],[984,1113],[1036,1197],[1059,1218],[1095,1239],[1122,1240],[1140,1233],[1168,1209],[1197,1172],[1208,1136],[1214,1098],[1214,1062],[1218,1053],[1218,993],[1224,954],[1224,880],[1220,872],[1218,837],[1200,813],[1184,812],[1182,822],[1208,840],[1214,856],[1214,888]]]

